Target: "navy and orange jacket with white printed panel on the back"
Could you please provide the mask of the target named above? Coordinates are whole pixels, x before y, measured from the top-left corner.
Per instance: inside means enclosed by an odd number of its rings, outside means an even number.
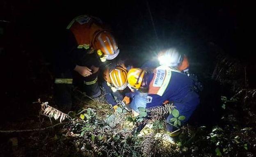
[[[194,81],[187,75],[171,69],[169,67],[159,66],[148,79],[149,92],[146,107],[162,105],[163,102],[185,102],[184,98],[193,93],[199,100],[197,93],[194,91]],[[194,106],[198,103],[189,104]]]

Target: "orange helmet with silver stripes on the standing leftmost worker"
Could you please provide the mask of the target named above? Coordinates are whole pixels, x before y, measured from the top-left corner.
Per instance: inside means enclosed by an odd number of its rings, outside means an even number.
[[[103,55],[106,60],[114,59],[119,53],[117,42],[113,35],[106,30],[99,31],[94,35],[92,46],[98,55]]]

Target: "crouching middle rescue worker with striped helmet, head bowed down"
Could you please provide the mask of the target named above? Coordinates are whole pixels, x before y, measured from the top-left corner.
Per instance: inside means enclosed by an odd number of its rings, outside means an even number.
[[[108,66],[103,72],[105,82],[102,83],[105,89],[105,100],[117,109],[117,104],[125,105],[130,102],[130,98],[124,96],[129,94],[129,86],[127,82],[127,73],[133,66],[125,66],[124,62],[119,61],[118,64]],[[129,87],[129,88],[127,88]],[[132,89],[132,88],[130,88]]]

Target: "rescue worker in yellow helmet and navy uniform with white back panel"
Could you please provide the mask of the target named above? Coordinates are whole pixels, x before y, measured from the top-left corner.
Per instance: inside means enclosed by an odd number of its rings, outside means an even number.
[[[185,116],[182,124],[187,122],[199,104],[199,95],[195,89],[194,81],[176,69],[168,66],[159,66],[153,71],[143,69],[130,69],[127,74],[128,83],[140,92],[133,97],[130,107],[138,111],[138,107],[150,108],[161,106],[164,102],[173,102],[180,115]],[[172,115],[166,120],[170,121]],[[167,124],[167,130],[174,127]]]

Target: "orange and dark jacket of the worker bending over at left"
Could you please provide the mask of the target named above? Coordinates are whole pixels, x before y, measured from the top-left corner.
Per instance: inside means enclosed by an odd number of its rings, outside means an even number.
[[[89,15],[74,18],[59,37],[59,46],[55,48],[56,71],[73,70],[75,65],[99,67],[100,60],[91,40],[97,31],[103,30],[102,22]]]

